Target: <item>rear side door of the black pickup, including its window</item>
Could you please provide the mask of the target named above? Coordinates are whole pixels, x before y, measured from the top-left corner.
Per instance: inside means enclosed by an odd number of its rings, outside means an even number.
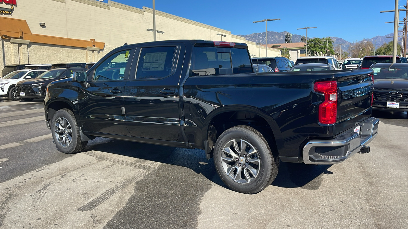
[[[126,127],[131,136],[179,139],[179,82],[184,53],[184,44],[174,42],[137,49],[124,90]]]

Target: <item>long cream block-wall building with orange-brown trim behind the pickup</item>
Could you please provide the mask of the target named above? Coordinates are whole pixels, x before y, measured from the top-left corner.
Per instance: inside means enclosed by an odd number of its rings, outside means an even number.
[[[157,40],[222,38],[248,44],[253,57],[265,56],[264,46],[230,31],[162,11],[155,15]],[[97,0],[0,0],[0,70],[9,64],[95,62],[124,43],[153,41],[152,31],[153,10],[147,7]],[[279,55],[268,48],[268,56]]]

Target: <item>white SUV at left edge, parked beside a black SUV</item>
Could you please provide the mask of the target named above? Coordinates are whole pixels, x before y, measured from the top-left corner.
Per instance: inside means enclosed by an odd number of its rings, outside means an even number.
[[[47,69],[22,69],[13,71],[0,79],[0,97],[9,97],[11,100],[19,100],[20,96],[16,91],[16,84],[24,79],[33,79]]]

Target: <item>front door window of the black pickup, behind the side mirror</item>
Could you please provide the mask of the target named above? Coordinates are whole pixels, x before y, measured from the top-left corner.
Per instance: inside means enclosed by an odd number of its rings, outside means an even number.
[[[95,68],[94,81],[123,80],[131,50],[115,53]]]

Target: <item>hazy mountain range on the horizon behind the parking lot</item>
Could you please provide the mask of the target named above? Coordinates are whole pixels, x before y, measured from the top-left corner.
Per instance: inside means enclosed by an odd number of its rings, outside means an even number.
[[[282,44],[285,43],[285,35],[288,33],[287,31],[283,32],[274,32],[274,31],[268,31],[268,44]],[[369,40],[371,42],[375,42],[375,48],[378,48],[384,43],[388,43],[392,41],[392,38],[387,38],[387,37],[392,37],[394,33],[389,33],[384,36],[375,36],[373,38],[369,39],[364,39],[364,40]],[[402,31],[399,31],[398,33],[399,36],[402,35]],[[238,34],[238,36],[245,37],[246,40],[253,41],[253,42],[260,42],[261,44],[265,43],[265,33],[252,33],[248,35],[241,35]],[[292,42],[300,42],[300,38],[302,35],[298,34],[292,34]],[[331,39],[335,40],[333,44],[342,44],[341,45],[341,52],[347,51],[352,42],[346,41],[340,37],[331,37]],[[308,37],[308,39],[315,38],[315,37]],[[399,39],[401,40],[401,38]],[[336,46],[335,46],[336,47]]]

